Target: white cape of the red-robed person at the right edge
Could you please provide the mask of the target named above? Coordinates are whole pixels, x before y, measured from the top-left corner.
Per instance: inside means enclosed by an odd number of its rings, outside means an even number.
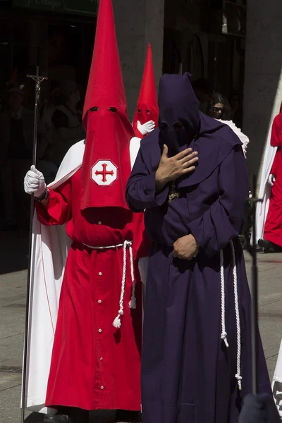
[[[271,185],[269,185],[269,175],[274,162],[274,157],[277,151],[277,147],[271,147],[271,130],[266,140],[266,147],[264,150],[264,162],[262,165],[262,176],[259,185],[259,199],[262,202],[257,203],[256,212],[256,226],[257,226],[257,240],[264,238],[264,223],[266,221],[267,212],[269,211],[269,199],[271,194]]]

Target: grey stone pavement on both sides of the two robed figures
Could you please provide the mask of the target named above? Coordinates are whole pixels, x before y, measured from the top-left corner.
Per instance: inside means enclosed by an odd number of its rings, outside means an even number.
[[[20,423],[27,233],[0,233],[0,423]],[[259,254],[259,326],[272,378],[282,337],[282,253]],[[246,253],[247,275],[251,259]],[[25,422],[42,422],[26,413]]]

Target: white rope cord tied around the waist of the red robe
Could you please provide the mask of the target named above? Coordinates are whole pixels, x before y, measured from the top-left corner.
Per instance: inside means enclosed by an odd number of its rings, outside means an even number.
[[[119,299],[119,310],[116,319],[113,321],[113,326],[117,329],[121,327],[121,316],[123,316],[123,300],[125,295],[125,281],[126,281],[126,252],[129,249],[130,255],[130,273],[133,284],[132,296],[129,302],[129,307],[132,309],[136,308],[136,298],[135,298],[135,277],[134,277],[134,263],[133,263],[133,250],[132,250],[132,241],[125,241],[123,244],[118,245],[107,245],[106,247],[92,247],[87,244],[83,244],[85,247],[92,248],[92,250],[109,250],[111,248],[123,247],[123,278],[121,280],[121,297]]]

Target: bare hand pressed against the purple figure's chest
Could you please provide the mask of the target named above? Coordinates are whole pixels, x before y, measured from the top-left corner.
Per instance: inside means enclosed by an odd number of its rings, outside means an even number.
[[[168,157],[168,147],[164,145],[163,154],[156,172],[156,186],[162,190],[166,183],[176,180],[180,176],[195,171],[195,164],[199,160],[197,152],[192,152],[192,148],[187,148],[176,156]]]

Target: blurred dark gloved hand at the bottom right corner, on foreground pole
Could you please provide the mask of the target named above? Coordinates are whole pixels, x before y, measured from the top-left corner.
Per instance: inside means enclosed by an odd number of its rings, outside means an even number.
[[[268,393],[257,396],[247,395],[244,399],[239,423],[281,423],[274,398]]]

